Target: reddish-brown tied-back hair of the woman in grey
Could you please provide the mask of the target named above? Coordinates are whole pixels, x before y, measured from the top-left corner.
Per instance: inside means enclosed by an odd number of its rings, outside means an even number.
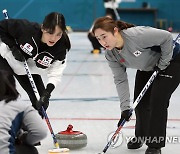
[[[100,17],[95,20],[94,26],[92,28],[92,32],[94,34],[95,30],[100,28],[107,32],[114,32],[114,28],[117,27],[119,31],[127,28],[134,27],[135,25],[121,21],[121,20],[113,20],[109,17]]]

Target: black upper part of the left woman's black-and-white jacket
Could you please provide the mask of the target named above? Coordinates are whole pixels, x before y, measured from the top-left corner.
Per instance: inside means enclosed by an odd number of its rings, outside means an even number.
[[[0,38],[9,48],[13,46],[20,48],[21,45],[30,45],[32,47],[29,53],[21,50],[26,59],[33,58],[37,63],[39,60],[42,61],[45,55],[50,57],[50,64],[52,64],[55,60],[63,61],[66,58],[68,47],[63,35],[52,47],[42,43],[41,37],[41,26],[38,23],[29,22],[25,19],[5,19],[0,21]],[[41,66],[39,63],[37,66],[46,68],[46,66]]]

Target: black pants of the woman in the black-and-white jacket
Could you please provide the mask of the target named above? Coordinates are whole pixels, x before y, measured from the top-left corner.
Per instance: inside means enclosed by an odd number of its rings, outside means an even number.
[[[11,69],[11,67],[9,66],[9,64],[7,63],[7,61],[4,58],[2,58],[1,56],[0,56],[0,70],[5,70],[5,71],[8,71],[8,72],[11,72],[16,77],[19,84],[22,86],[22,88],[28,94],[28,96],[29,96],[29,98],[31,100],[32,106],[34,108],[36,108],[35,104],[36,104],[37,99],[36,99],[36,96],[35,96],[34,91],[32,89],[32,86],[31,86],[31,83],[29,81],[28,76],[27,75],[17,75],[17,74],[15,74],[13,72],[13,70]],[[42,78],[38,74],[32,74],[32,77],[33,77],[34,82],[36,84],[36,87],[38,89],[39,95],[41,96],[43,91],[45,90]]]

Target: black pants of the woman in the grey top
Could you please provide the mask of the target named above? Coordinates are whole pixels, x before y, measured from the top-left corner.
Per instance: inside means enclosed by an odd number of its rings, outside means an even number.
[[[153,72],[137,71],[136,99]],[[164,72],[160,72],[135,109],[135,136],[144,138],[149,147],[165,146],[168,106],[172,93],[180,83],[180,55]]]

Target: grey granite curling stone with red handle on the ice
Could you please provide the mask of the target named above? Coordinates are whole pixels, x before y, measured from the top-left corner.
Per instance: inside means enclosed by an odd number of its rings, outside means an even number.
[[[56,134],[60,148],[80,149],[87,145],[86,134],[80,131],[73,131],[73,126],[68,125],[66,131]]]

